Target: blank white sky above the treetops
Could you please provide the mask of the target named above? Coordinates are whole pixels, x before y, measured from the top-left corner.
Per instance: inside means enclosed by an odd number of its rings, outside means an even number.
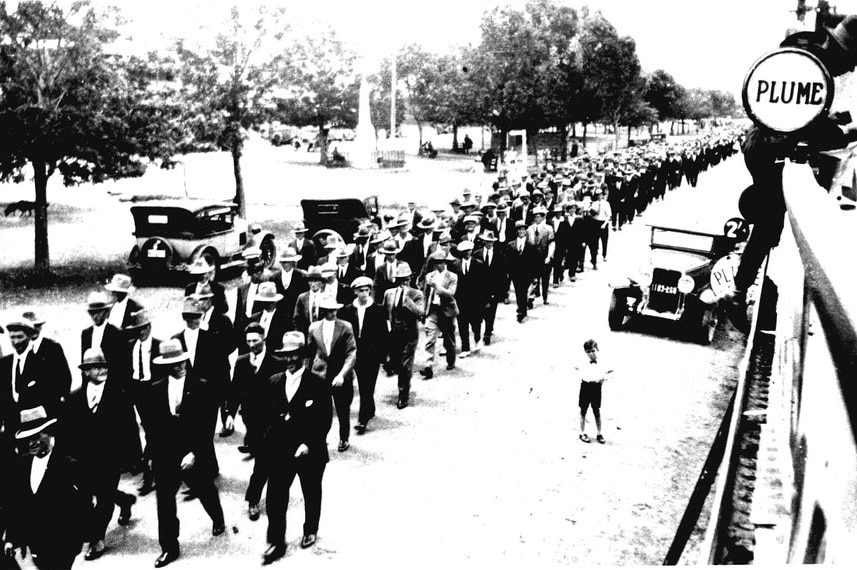
[[[95,0],[110,3],[111,0]],[[636,40],[645,72],[664,69],[685,87],[721,89],[736,96],[749,67],[774,49],[796,24],[796,0],[556,0],[601,10],[621,35]],[[289,18],[321,33],[326,26],[362,46],[370,58],[418,42],[444,51],[479,41],[483,12],[497,5],[522,7],[526,0],[242,0],[287,6]],[[137,41],[158,36],[204,34],[228,13],[232,0],[121,2]],[[810,4],[813,2],[810,1]],[[854,13],[857,0],[832,0]]]

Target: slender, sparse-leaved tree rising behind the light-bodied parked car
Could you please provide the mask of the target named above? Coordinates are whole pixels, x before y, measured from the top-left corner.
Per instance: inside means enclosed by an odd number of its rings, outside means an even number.
[[[241,157],[247,130],[268,120],[272,91],[281,78],[283,8],[264,4],[242,12],[234,4],[227,28],[212,45],[179,40],[176,46],[185,103],[185,126],[198,150],[224,148],[232,155],[235,198],[247,215]]]

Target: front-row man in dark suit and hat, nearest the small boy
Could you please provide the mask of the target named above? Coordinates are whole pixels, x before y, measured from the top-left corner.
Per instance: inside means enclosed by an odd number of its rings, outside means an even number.
[[[321,518],[324,469],[330,456],[327,432],[333,421],[328,385],[306,366],[304,335],[290,331],[277,351],[285,370],[274,374],[266,385],[267,404],[263,453],[270,466],[267,514],[268,548],[262,564],[271,564],[286,554],[286,511],[289,488],[300,478],[304,496],[304,528],[301,548],[316,542]]]

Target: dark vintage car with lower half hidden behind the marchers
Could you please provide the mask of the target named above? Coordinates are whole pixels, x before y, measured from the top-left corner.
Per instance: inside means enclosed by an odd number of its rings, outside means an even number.
[[[307,235],[316,246],[335,235],[338,241],[354,241],[354,234],[360,226],[378,213],[378,197],[369,196],[365,200],[358,198],[331,198],[327,200],[301,200],[304,224]]]

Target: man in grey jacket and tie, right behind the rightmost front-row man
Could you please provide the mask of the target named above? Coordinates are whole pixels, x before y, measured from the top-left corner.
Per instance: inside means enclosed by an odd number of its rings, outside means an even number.
[[[324,378],[333,396],[339,420],[339,447],[343,452],[351,445],[351,402],[354,400],[354,364],[357,343],[347,321],[338,319],[336,312],[342,304],[324,296],[319,304],[321,320],[309,326],[310,366],[316,376]]]

